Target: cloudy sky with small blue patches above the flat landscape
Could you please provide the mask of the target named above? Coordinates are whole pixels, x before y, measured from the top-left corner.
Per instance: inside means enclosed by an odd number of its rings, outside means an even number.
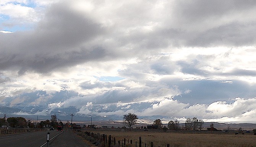
[[[253,0],[1,0],[0,106],[255,123],[255,13]]]

